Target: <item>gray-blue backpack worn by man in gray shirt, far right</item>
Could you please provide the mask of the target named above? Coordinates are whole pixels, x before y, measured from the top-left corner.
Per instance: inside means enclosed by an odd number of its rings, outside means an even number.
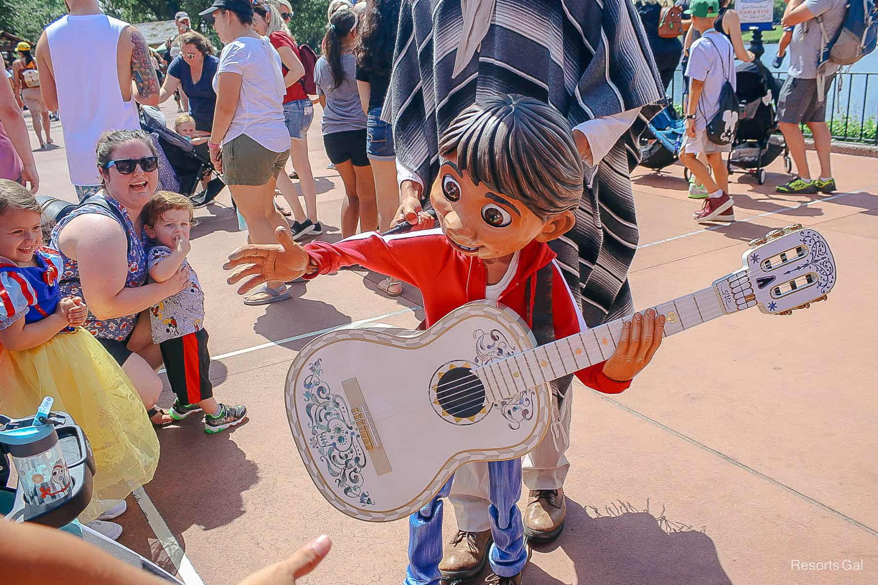
[[[853,65],[875,49],[878,39],[878,0],[849,0],[844,22],[830,39],[826,34],[823,17],[817,17],[824,46],[817,61],[818,68],[824,63]]]

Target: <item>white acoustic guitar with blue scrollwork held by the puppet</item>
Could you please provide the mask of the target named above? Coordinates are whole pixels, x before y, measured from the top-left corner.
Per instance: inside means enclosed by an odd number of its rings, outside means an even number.
[[[788,314],[835,284],[829,246],[810,228],[790,225],[750,244],[740,270],[654,307],[666,315],[666,336],[753,306]],[[427,331],[330,332],[287,375],[292,435],[335,508],[373,522],[407,517],[464,463],[536,447],[550,424],[548,382],[606,360],[622,325],[536,346],[515,312],[477,301]]]

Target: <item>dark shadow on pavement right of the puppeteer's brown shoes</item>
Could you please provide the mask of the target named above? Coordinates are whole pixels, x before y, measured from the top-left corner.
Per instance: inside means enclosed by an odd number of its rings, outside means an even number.
[[[556,542],[535,546],[534,554],[560,546],[573,560],[579,583],[731,585],[707,534],[628,504],[605,511],[586,510],[568,498],[567,530]],[[533,563],[524,576],[541,585],[562,582]]]

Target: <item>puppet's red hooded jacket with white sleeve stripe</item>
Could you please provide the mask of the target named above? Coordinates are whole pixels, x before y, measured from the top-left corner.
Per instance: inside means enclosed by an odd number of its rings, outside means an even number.
[[[377,232],[361,233],[335,244],[312,242],[305,250],[317,264],[318,274],[335,272],[340,267],[359,264],[382,275],[408,282],[423,296],[426,325],[433,325],[465,303],[485,298],[485,264],[479,258],[466,256],[450,246],[442,229],[382,236]],[[498,303],[515,310],[527,319],[530,310],[524,306],[528,278],[550,262],[553,264],[552,321],[555,336],[562,339],[587,330],[579,306],[561,275],[555,253],[545,242],[536,240],[524,246],[518,259],[515,276],[500,294]],[[306,279],[314,278],[306,275]],[[531,279],[536,288],[536,279]],[[531,290],[530,298],[534,298]],[[528,324],[531,325],[531,324]],[[589,388],[606,394],[618,394],[631,382],[613,382],[603,374],[604,362],[579,370],[576,376]]]

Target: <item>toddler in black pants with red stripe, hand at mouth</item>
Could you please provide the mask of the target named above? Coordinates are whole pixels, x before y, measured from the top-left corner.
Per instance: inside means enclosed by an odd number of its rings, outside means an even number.
[[[213,398],[211,355],[204,327],[205,294],[198,275],[186,260],[191,249],[189,235],[194,212],[185,196],[158,191],[143,207],[140,217],[154,243],[147,255],[149,278],[165,281],[181,266],[190,277],[188,287],[149,310],[153,341],[162,350],[170,387],[176,394],[170,416],[183,420],[203,412],[205,432],[213,433],[241,424],[247,409],[218,403]]]

